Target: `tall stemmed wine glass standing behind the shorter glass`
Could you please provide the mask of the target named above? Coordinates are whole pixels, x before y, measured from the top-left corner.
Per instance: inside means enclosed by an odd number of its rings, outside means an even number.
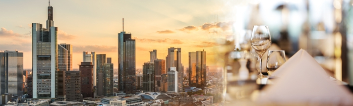
[[[253,32],[251,34],[251,47],[256,51],[260,58],[260,74],[259,78],[264,78],[262,74],[262,56],[265,54],[267,49],[271,46],[271,35],[268,30],[268,26],[254,25]]]

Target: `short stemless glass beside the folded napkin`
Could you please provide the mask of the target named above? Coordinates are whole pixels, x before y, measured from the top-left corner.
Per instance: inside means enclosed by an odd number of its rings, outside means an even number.
[[[284,50],[268,50],[266,69],[271,75],[277,68],[285,62]]]

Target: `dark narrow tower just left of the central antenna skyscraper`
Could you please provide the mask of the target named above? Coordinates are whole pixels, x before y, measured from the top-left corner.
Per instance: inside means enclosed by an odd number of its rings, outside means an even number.
[[[114,95],[114,67],[111,62],[103,65],[103,95],[113,96]]]

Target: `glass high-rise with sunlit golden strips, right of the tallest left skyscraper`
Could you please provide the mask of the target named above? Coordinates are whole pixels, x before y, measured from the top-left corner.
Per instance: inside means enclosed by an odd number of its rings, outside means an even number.
[[[57,68],[59,71],[72,70],[72,58],[73,57],[71,44],[57,44]]]

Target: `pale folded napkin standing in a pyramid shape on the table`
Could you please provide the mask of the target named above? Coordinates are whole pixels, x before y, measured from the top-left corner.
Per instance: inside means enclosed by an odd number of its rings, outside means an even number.
[[[256,101],[261,104],[353,105],[353,95],[330,81],[324,69],[307,51],[300,49],[279,67]]]

